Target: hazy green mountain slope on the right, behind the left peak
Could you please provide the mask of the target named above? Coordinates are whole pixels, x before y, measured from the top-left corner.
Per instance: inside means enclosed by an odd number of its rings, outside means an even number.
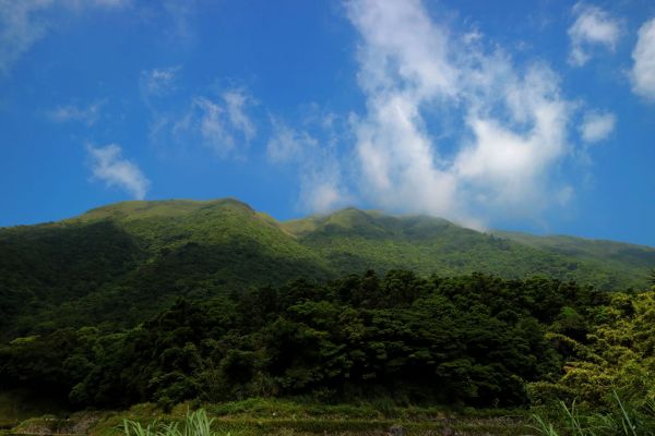
[[[441,218],[391,217],[345,209],[284,227],[340,274],[374,268],[458,275],[484,271],[507,278],[534,275],[603,289],[643,287],[655,250],[563,237],[483,233]]]

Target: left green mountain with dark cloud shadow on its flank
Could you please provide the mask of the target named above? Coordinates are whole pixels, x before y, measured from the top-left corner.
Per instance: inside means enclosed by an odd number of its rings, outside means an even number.
[[[49,330],[90,318],[132,325],[181,295],[331,274],[275,220],[240,202],[120,203],[0,230],[0,329]]]

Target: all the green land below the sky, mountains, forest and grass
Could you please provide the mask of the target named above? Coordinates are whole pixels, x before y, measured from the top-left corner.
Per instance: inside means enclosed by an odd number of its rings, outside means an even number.
[[[471,410],[500,420],[471,434],[514,434],[533,413],[546,435],[650,435],[651,256],[356,209],[281,225],[236,201],[129,202],[4,229],[0,426],[41,410],[13,401],[38,396],[105,411],[80,415],[103,435],[126,417],[107,410],[151,403],[167,424],[128,415],[126,436],[398,421],[429,433]],[[631,280],[640,291],[607,289]],[[179,404],[207,414],[182,420]]]

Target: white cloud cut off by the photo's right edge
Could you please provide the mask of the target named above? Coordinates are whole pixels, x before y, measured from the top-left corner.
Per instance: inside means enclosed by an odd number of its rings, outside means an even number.
[[[632,90],[655,101],[655,19],[651,19],[639,29],[632,60]]]

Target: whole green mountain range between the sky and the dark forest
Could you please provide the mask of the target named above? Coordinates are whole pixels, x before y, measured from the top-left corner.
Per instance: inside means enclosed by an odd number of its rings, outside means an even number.
[[[279,223],[235,199],[124,202],[0,229],[0,332],[134,325],[178,296],[223,298],[303,277],[412,269],[643,287],[655,250],[495,234],[425,216],[344,209]],[[228,310],[228,308],[226,308]]]

